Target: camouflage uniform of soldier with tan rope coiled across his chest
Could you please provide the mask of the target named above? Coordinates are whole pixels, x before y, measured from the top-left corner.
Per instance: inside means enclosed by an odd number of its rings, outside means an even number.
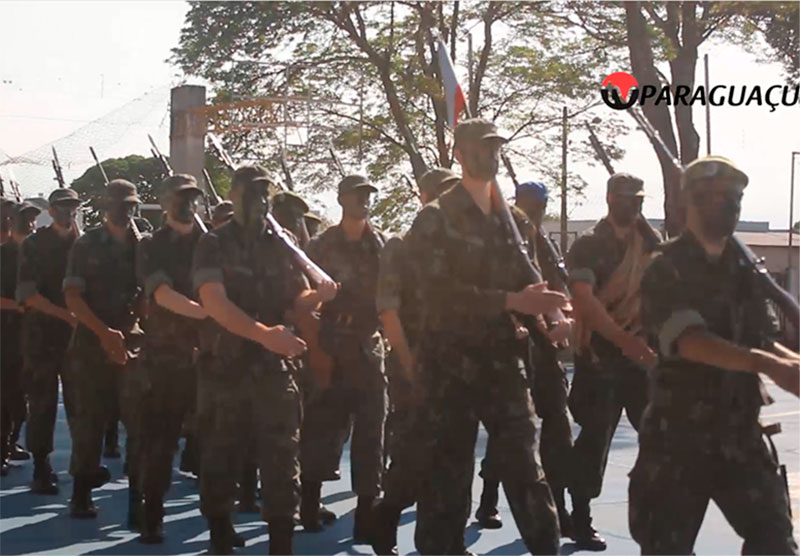
[[[619,266],[625,243],[617,239],[611,223],[603,218],[579,237],[567,254],[571,282],[588,282],[602,288]],[[573,447],[573,498],[600,495],[608,462],[608,450],[622,410],[635,429],[647,403],[647,373],[624,357],[614,344],[592,333],[590,349],[575,355],[575,375],[569,409],[581,431]]]

